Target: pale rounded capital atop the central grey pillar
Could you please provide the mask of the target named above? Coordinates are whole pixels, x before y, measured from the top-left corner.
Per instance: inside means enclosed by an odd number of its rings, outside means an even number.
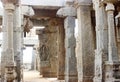
[[[66,6],[64,8],[60,8],[58,11],[57,11],[57,15],[59,17],[67,17],[67,16],[73,16],[75,17],[77,15],[77,11],[74,7],[72,6]]]

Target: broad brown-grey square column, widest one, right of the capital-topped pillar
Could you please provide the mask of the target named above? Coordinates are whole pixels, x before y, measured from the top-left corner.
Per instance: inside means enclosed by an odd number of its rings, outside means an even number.
[[[78,82],[93,82],[94,77],[94,33],[91,24],[91,1],[76,1],[78,18],[77,69]]]

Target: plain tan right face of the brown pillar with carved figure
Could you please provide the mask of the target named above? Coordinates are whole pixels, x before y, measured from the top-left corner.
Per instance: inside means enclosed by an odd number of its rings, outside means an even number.
[[[48,22],[46,27],[48,32],[48,47],[49,47],[49,57],[50,57],[50,77],[57,77],[58,68],[58,46],[57,46],[57,36],[58,36],[58,21],[57,18],[52,18]]]

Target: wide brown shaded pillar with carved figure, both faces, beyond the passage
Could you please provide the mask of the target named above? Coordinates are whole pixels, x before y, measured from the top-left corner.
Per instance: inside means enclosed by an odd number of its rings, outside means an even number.
[[[58,46],[57,27],[54,25],[55,23],[56,21],[51,19],[44,29],[39,30],[40,71],[44,77],[57,77]]]

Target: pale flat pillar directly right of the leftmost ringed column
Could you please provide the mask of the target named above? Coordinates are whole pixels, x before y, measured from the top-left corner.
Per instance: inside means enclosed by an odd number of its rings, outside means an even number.
[[[21,3],[19,1],[18,5],[15,7],[15,12],[14,12],[14,33],[13,33],[13,42],[14,42],[14,59],[16,62],[16,72],[17,72],[17,81],[20,82],[22,77],[21,77],[21,72],[22,72],[22,22],[21,22]]]

